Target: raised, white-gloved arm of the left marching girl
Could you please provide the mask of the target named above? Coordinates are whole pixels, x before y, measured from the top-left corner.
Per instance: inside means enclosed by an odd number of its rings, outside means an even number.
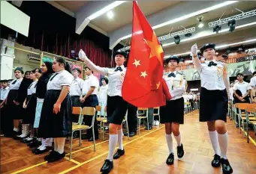
[[[92,61],[87,58],[86,53],[83,52],[82,49],[79,52],[79,58],[80,60],[83,60],[83,62],[86,63],[86,66],[88,66],[89,69],[92,69],[92,71],[98,72],[101,75],[107,75],[107,68],[102,68],[100,66],[96,66],[95,63],[92,63]]]

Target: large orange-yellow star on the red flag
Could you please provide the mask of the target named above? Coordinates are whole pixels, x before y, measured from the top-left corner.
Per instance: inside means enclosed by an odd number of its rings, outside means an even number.
[[[161,45],[158,42],[158,38],[155,36],[155,32],[152,34],[152,41],[145,40],[145,42],[150,48],[149,58],[156,56],[156,58],[158,58],[158,60],[160,61],[161,65],[163,65],[161,60],[161,53],[163,52],[163,49],[161,48]]]

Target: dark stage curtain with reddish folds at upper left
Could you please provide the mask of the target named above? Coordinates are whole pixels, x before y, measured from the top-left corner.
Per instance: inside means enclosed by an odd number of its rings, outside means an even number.
[[[18,34],[17,43],[67,58],[77,58],[83,49],[98,66],[111,66],[109,37],[89,26],[76,34],[76,19],[46,1],[23,1],[20,10],[30,16],[29,37]],[[8,34],[16,32],[1,25],[1,36],[7,38]]]

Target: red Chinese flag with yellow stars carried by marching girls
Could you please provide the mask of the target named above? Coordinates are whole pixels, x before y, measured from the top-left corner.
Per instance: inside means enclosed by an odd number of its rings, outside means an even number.
[[[167,86],[163,86],[163,59],[164,52],[158,37],[137,2],[133,1],[131,52],[122,85],[125,101],[140,108],[165,105],[166,98],[170,97],[164,94],[170,96],[170,93]]]

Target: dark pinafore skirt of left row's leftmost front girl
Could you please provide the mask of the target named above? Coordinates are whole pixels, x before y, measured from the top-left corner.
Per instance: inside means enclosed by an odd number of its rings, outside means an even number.
[[[14,104],[14,99],[17,97],[18,90],[10,90],[7,98],[6,114],[12,119],[23,119],[23,103],[20,105]]]

